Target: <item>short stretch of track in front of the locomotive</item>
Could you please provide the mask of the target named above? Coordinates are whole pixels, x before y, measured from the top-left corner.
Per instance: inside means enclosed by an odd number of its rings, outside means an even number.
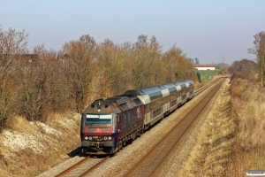
[[[66,177],[66,176],[79,176],[79,177],[83,177],[86,176],[88,173],[91,173],[95,168],[97,168],[99,165],[102,165],[103,163],[105,163],[110,157],[106,157],[106,158],[84,158],[81,161],[79,161],[79,163],[72,165],[71,167],[67,168],[66,170],[64,170],[64,172],[57,174],[56,177]],[[93,163],[94,165],[88,167],[87,165],[87,160],[96,160],[97,162]],[[91,164],[91,163],[89,163]],[[87,169],[88,167],[88,169]]]

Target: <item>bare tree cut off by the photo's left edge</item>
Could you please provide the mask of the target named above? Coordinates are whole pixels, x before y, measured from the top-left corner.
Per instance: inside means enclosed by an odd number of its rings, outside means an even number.
[[[9,28],[3,31],[0,26],[0,122],[14,114],[14,103],[17,86],[14,84],[15,58],[17,54],[27,50],[27,34],[25,30],[17,31]]]

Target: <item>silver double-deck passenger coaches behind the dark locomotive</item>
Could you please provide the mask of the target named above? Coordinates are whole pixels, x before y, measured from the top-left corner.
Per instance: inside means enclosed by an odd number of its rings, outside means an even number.
[[[144,125],[145,129],[148,129],[155,122],[192,99],[193,89],[192,80],[183,80],[128,90],[124,95],[137,96],[144,104]]]

